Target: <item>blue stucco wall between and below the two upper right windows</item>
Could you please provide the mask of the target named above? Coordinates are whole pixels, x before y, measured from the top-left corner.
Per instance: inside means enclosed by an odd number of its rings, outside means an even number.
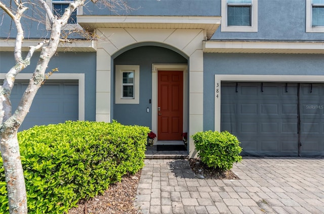
[[[258,32],[221,32],[219,27],[212,40],[307,41],[324,36],[306,32],[305,0],[258,0]]]

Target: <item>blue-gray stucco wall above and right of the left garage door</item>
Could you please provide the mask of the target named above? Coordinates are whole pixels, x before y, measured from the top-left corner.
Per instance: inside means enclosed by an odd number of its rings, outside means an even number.
[[[23,53],[23,55],[26,53]],[[30,65],[21,73],[32,73],[39,52],[35,52]],[[0,52],[0,73],[7,73],[15,65],[13,52]],[[59,52],[51,59],[48,70],[58,68],[59,74],[85,74],[85,120],[96,120],[96,53],[95,52]],[[55,78],[55,73],[49,78]]]

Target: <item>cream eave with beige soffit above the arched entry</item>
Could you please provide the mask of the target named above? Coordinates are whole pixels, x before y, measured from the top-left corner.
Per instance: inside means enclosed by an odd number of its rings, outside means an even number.
[[[87,30],[96,28],[204,29],[209,40],[221,24],[220,16],[77,16]]]

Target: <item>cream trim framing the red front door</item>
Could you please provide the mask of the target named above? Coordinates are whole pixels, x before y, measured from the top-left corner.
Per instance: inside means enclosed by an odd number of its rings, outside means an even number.
[[[157,72],[158,70],[180,70],[183,72],[183,131],[188,127],[188,65],[152,64],[152,131],[157,134]],[[156,143],[157,137],[154,138]]]

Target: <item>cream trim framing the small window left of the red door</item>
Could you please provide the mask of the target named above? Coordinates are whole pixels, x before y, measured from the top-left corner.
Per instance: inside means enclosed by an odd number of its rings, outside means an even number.
[[[123,72],[129,70],[134,72],[134,98],[123,97]],[[139,65],[116,65],[115,103],[116,104],[139,104],[140,103],[140,66]]]

